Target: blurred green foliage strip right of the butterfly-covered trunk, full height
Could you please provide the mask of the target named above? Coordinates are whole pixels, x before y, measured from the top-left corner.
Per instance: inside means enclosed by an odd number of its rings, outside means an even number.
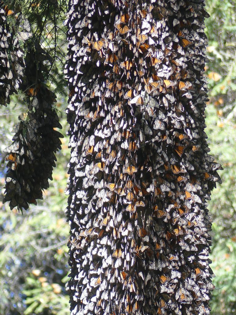
[[[236,314],[236,1],[208,0],[210,103],[206,133],[211,154],[221,163],[222,185],[212,192],[212,265],[216,290],[211,315]]]

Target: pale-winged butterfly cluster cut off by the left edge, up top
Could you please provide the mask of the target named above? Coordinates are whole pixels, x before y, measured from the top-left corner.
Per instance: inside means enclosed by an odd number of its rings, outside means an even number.
[[[7,106],[10,95],[17,93],[23,77],[24,52],[14,30],[9,32],[7,6],[0,4],[0,104]],[[19,18],[20,20],[20,18]],[[19,23],[19,22],[17,22]]]

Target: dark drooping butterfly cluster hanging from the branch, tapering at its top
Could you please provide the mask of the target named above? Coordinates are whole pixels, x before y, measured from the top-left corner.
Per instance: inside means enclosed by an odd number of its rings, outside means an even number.
[[[26,81],[22,83],[28,111],[19,116],[13,143],[4,150],[8,153],[8,170],[3,202],[10,201],[11,209],[27,209],[29,203],[37,204],[36,199],[42,199],[42,190],[49,187],[48,179],[52,180],[55,153],[61,149],[59,138],[63,135],[54,130],[62,128],[53,106],[56,95],[44,85],[43,65],[38,60],[29,50],[25,58]]]

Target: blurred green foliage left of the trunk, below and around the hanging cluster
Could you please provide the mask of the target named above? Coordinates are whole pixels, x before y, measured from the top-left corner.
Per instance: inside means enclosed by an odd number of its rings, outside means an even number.
[[[3,135],[1,151],[10,141],[10,130],[22,110],[18,106],[12,111],[14,102],[10,105],[1,112],[2,117],[5,117],[0,121]],[[64,99],[56,103],[56,108],[62,113],[64,132],[65,106]],[[69,298],[64,288],[69,272],[69,225],[64,214],[67,204],[64,194],[66,165],[70,158],[66,135],[62,142],[53,181],[45,191],[43,201],[38,202],[37,206],[31,206],[24,215],[19,215],[17,209],[10,211],[7,204],[0,202],[0,290],[3,292],[0,314],[69,314]],[[4,169],[0,172],[2,186],[3,173]]]

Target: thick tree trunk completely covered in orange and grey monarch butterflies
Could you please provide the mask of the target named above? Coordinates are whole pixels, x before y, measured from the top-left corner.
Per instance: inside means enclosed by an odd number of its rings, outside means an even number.
[[[71,0],[67,193],[76,315],[205,315],[204,0]]]

